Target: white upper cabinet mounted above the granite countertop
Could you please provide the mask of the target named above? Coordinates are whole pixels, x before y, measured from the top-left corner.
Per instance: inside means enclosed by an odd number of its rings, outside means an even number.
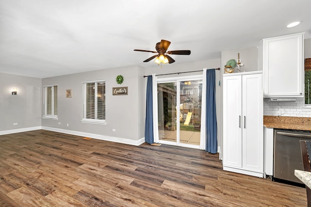
[[[263,39],[259,70],[264,73],[264,97],[304,96],[303,33]]]

